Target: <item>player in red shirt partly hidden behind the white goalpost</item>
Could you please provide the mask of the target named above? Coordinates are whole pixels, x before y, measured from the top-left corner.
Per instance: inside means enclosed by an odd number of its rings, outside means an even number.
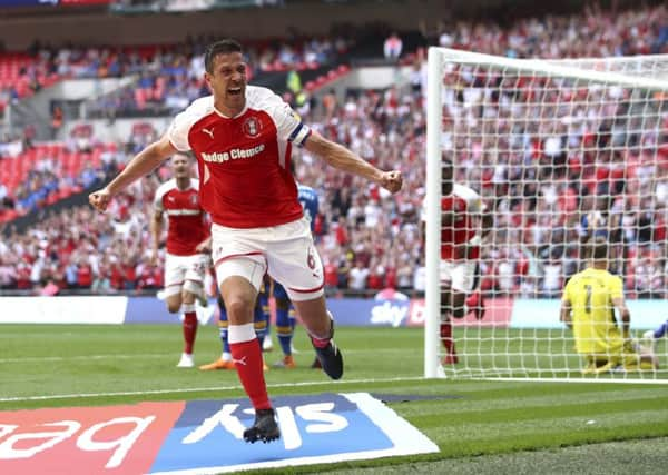
[[[491,230],[492,215],[487,212],[480,195],[454,184],[452,161],[443,158],[441,178],[441,342],[445,348],[442,364],[458,363],[452,318],[463,318],[469,309],[478,319],[484,316],[480,284],[480,243]],[[424,222],[423,222],[424,225]]]

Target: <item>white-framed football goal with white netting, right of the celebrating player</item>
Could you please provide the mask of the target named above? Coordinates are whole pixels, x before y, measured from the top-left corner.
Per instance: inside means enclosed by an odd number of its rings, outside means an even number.
[[[668,379],[667,338],[642,337],[668,318],[668,56],[548,61],[431,48],[428,66],[425,377]],[[456,206],[442,222],[450,160],[453,181],[480,195],[493,226],[475,274],[484,317],[450,318],[446,349],[441,239],[468,222]],[[481,232],[480,219],[469,226]],[[633,370],[612,339],[597,346],[596,335],[621,330],[607,304],[607,318],[580,325],[578,338],[560,321],[563,286],[590,264],[595,238],[623,283],[626,350],[652,349],[659,369]],[[606,357],[613,364],[601,369]]]

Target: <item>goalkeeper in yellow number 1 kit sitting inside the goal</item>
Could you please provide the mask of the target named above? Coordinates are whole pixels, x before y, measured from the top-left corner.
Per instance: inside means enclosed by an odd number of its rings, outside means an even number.
[[[576,350],[584,357],[582,374],[602,374],[613,369],[657,369],[658,360],[629,337],[631,315],[623,299],[621,279],[610,274],[608,244],[603,238],[590,241],[590,265],[573,275],[563,289],[560,319],[573,330]],[[621,325],[615,318],[615,309]]]

